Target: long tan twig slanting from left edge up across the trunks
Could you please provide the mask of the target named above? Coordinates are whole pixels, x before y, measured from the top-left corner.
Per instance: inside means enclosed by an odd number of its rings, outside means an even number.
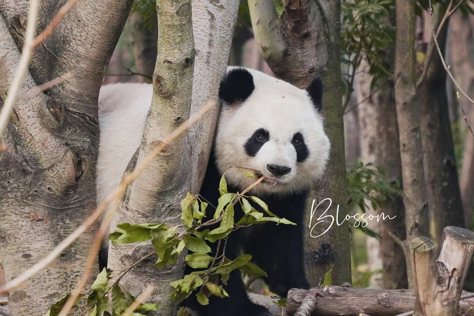
[[[216,102],[208,102],[199,112],[194,114],[191,118],[187,121],[182,123],[176,130],[174,130],[171,134],[169,134],[164,141],[159,145],[156,146],[144,159],[143,161],[135,168],[135,170],[129,173],[124,179],[122,180],[120,186],[112,193],[110,193],[97,209],[92,212],[92,214],[86,218],[84,223],[82,223],[73,233],[66,237],[64,241],[62,241],[59,245],[55,247],[50,253],[46,256],[45,259],[41,260],[40,262],[36,263],[33,267],[23,272],[17,278],[11,280],[9,283],[5,284],[4,286],[0,287],[0,291],[9,291],[13,288],[18,287],[27,279],[31,278],[35,275],[39,270],[42,270],[49,266],[51,262],[55,260],[55,258],[62,253],[71,243],[73,243],[77,238],[79,238],[83,232],[89,229],[91,225],[99,218],[100,214],[105,210],[105,208],[112,203],[116,198],[120,197],[122,192],[125,191],[127,186],[132,183],[137,177],[140,176],[143,170],[155,159],[155,156],[158,155],[167,144],[171,143],[176,137],[178,137],[182,132],[191,126],[195,121],[199,120],[201,116],[203,116],[206,112],[212,109],[216,105]]]

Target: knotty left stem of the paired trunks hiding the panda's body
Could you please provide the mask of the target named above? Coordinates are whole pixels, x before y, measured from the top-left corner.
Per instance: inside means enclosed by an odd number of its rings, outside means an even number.
[[[194,42],[192,38],[191,0],[156,2],[158,19],[158,54],[153,74],[153,99],[146,121],[142,143],[131,159],[128,169],[137,164],[161,143],[177,125],[188,119],[191,106]],[[179,118],[179,120],[178,120]],[[111,223],[114,231],[118,223],[141,223],[143,216],[148,223],[180,225],[180,201],[190,191],[190,148],[182,134],[172,144],[167,144],[144,173],[128,186],[127,192]],[[108,268],[126,269],[153,251],[150,243],[116,245],[109,243]],[[176,264],[160,273],[153,273],[153,261],[142,264],[142,269],[132,270],[120,280],[132,295],[137,296],[147,285],[155,290],[150,300],[159,302],[156,315],[174,315],[176,304],[169,293],[169,283],[182,278],[185,251]],[[144,273],[144,270],[147,272]]]

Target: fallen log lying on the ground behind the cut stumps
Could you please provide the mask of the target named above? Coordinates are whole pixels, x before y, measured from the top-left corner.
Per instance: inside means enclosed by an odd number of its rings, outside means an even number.
[[[302,300],[315,291],[326,294],[318,297],[312,316],[354,316],[367,314],[370,316],[396,316],[415,309],[415,292],[411,290],[375,290],[366,288],[352,288],[327,286],[324,289],[311,288],[310,290],[293,288],[288,292],[286,312],[294,315],[301,306]],[[463,291],[462,295],[469,294]],[[255,302],[260,302],[261,296],[254,295]],[[273,298],[272,301],[277,301]],[[264,299],[266,304],[270,300]],[[270,304],[271,305],[271,304]],[[469,309],[472,307],[471,309]],[[281,316],[273,313],[274,316]],[[283,314],[284,315],[284,314]],[[474,316],[474,298],[459,301],[456,316]]]

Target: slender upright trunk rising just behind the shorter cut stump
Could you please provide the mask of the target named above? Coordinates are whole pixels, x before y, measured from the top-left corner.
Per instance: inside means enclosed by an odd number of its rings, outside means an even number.
[[[423,172],[419,100],[415,88],[415,2],[396,0],[395,101],[400,135],[407,241],[428,236],[428,203]],[[405,245],[406,247],[406,245]],[[410,257],[408,282],[412,288]]]

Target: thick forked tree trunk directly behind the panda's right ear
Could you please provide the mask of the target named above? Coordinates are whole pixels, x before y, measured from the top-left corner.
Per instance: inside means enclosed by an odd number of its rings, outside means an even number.
[[[331,141],[331,154],[324,177],[310,192],[307,208],[307,227],[310,211],[325,198],[332,199],[330,214],[339,218],[347,214],[346,159],[344,153],[344,122],[341,98],[340,64],[340,7],[339,0],[284,1],[285,10],[278,19],[271,0],[249,1],[250,17],[260,53],[273,73],[300,88],[305,88],[316,75],[326,86],[323,99],[325,130]],[[313,222],[327,204],[321,205]],[[319,224],[313,236],[324,232],[330,223]],[[334,284],[351,282],[349,230],[347,223],[332,227],[318,238],[305,232],[306,276],[313,286],[331,267]]]

